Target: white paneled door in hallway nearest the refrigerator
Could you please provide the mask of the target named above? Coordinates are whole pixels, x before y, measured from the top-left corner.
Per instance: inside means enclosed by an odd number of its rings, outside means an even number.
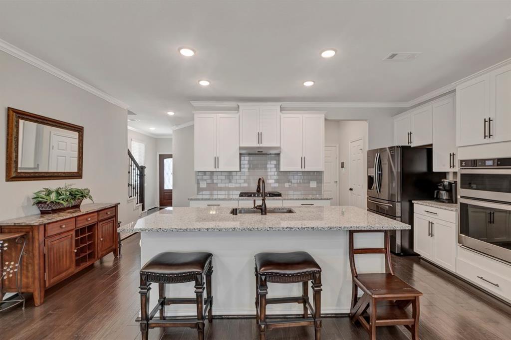
[[[364,138],[350,141],[350,205],[366,209]]]

